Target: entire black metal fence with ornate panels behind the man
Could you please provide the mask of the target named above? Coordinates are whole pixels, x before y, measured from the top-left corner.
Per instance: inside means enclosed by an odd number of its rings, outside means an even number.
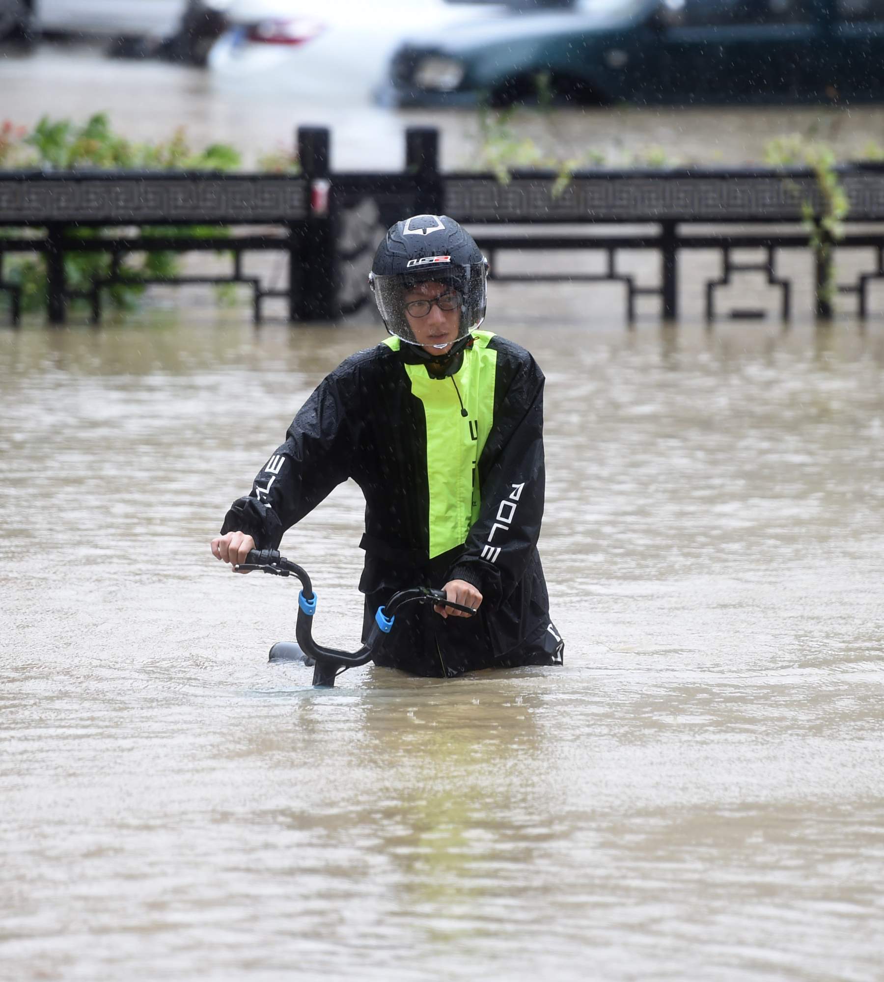
[[[65,321],[68,301],[84,298],[92,319],[101,316],[102,291],[118,283],[152,283],[125,271],[134,252],[150,250],[222,250],[232,256],[228,276],[188,276],[164,283],[245,283],[252,290],[255,321],[266,298],[287,300],[291,321],[335,320],[368,300],[367,273],[374,248],[394,221],[420,212],[445,213],[467,224],[491,259],[492,278],[500,281],[619,282],[624,285],[629,320],[635,301],[658,297],[660,313],[679,313],[680,265],[691,250],[721,255],[721,275],[704,284],[705,312],[716,314],[719,288],[735,276],[761,272],[780,292],[779,312],[792,310],[793,283],[778,269],[783,249],[812,248],[817,313],[831,314],[831,262],[838,250],[872,248],[877,262],[837,291],[856,296],[860,316],[868,312],[868,285],[884,279],[884,232],[869,227],[839,238],[830,249],[814,248],[826,233],[821,224],[824,201],[809,171],[766,169],[592,170],[567,182],[552,172],[514,172],[496,177],[439,170],[438,133],[414,128],[406,133],[406,167],[400,174],[332,173],[329,132],[303,128],[298,133],[299,176],[201,173],[29,173],[0,174],[0,227],[30,229],[26,236],[0,236],[0,292],[11,300],[13,323],[20,318],[20,288],[4,280],[3,260],[12,252],[46,257],[48,318]],[[884,223],[884,167],[847,166],[839,179],[850,202],[849,220]],[[808,227],[808,212],[815,230]],[[168,226],[215,226],[217,237],[164,236]],[[623,226],[649,231],[623,233]],[[699,231],[698,227],[703,226]],[[774,228],[776,226],[776,228]],[[570,227],[567,228],[567,227]],[[82,228],[101,230],[79,238]],[[149,228],[150,234],[138,233]],[[132,230],[136,230],[133,232]],[[112,231],[118,234],[112,234]],[[222,230],[225,232],[222,234]],[[229,233],[226,230],[230,230]],[[764,258],[740,261],[735,250],[753,248]],[[600,252],[600,273],[549,271],[529,276],[499,272],[496,259],[507,251],[569,249]],[[266,287],[260,277],[245,276],[243,257],[251,251],[286,254],[288,284]],[[65,279],[64,256],[75,251],[111,257],[110,273],[76,294]],[[627,251],[659,256],[654,284],[639,285],[618,265]],[[540,264],[542,266],[542,264]],[[732,311],[751,316],[759,311]],[[763,313],[763,311],[760,311]]]

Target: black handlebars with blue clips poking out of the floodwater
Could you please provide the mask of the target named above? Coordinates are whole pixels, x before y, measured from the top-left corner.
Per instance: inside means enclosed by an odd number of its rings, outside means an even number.
[[[303,656],[306,655],[314,662],[313,684],[325,688],[333,687],[335,679],[342,672],[358,665],[365,665],[381,651],[387,635],[393,629],[397,611],[406,604],[444,604],[446,607],[453,607],[455,610],[464,611],[467,614],[476,613],[472,607],[456,604],[453,600],[449,600],[442,590],[415,586],[411,590],[401,590],[399,593],[394,593],[385,606],[378,608],[368,640],[359,648],[359,651],[339,651],[337,648],[324,648],[313,640],[313,614],[316,611],[316,595],[313,593],[310,577],[302,567],[298,566],[297,563],[291,563],[284,556],[280,556],[275,549],[252,549],[246,557],[246,562],[241,563],[237,569],[261,570],[263,573],[272,573],[274,576],[289,576],[294,573],[301,580],[301,592],[298,594],[298,621],[295,626],[295,637],[298,639],[298,644],[293,644],[291,641],[277,641],[270,649],[270,659],[272,661],[286,658],[302,660]]]

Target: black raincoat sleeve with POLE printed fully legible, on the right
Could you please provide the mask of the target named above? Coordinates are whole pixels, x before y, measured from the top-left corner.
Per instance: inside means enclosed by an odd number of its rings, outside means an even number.
[[[524,353],[502,400],[479,460],[481,510],[465,552],[449,573],[476,586],[498,607],[535,555],[543,518],[543,373]]]

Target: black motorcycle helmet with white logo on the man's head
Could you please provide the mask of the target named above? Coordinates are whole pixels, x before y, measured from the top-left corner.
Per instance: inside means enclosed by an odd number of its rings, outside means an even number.
[[[414,215],[397,222],[374,253],[368,285],[390,334],[419,343],[405,313],[405,295],[418,283],[440,283],[461,298],[461,325],[449,352],[463,349],[485,319],[488,260],[469,232],[448,215]]]

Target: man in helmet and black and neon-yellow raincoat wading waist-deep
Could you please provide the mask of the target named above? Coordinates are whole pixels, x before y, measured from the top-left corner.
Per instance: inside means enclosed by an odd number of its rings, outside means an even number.
[[[212,552],[246,562],[352,477],[365,495],[363,638],[397,590],[442,587],[399,615],[377,664],[421,676],[561,665],[537,555],[543,515],[543,373],[478,327],[487,261],[457,222],[398,222],[369,282],[391,337],[319,384],[286,442],[234,502]]]

